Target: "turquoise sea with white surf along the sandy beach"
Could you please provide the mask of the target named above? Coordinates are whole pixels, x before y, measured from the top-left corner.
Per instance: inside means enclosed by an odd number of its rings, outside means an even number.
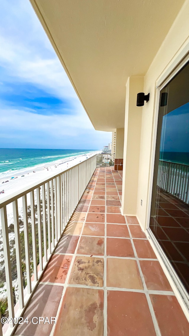
[[[26,170],[40,164],[47,164],[68,157],[84,155],[94,150],[70,149],[0,149],[0,176],[14,176],[18,170]]]

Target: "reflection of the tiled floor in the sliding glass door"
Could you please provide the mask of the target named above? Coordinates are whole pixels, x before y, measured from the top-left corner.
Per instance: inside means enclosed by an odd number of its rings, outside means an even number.
[[[150,228],[189,292],[189,206],[157,187]]]

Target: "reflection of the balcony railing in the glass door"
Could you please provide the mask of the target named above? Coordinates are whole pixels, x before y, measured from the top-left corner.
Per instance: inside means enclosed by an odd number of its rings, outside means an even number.
[[[189,165],[159,160],[157,185],[189,204]]]

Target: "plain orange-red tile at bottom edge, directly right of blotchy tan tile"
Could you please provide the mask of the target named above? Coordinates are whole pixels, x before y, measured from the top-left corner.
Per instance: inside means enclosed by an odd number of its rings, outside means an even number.
[[[144,293],[108,291],[107,296],[108,336],[156,336]]]

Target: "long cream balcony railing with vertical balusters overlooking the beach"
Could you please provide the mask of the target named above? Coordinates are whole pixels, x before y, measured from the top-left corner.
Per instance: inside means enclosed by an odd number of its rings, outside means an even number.
[[[8,334],[13,332],[16,318],[21,316],[48,259],[58,243],[95,169],[96,155],[70,169],[56,175],[51,175],[48,179],[44,179],[37,184],[24,188],[10,195],[10,197],[5,197],[0,201],[10,327],[7,331]],[[18,302],[15,307],[7,217],[7,206],[11,203],[18,286]],[[22,211],[18,206],[20,204]],[[19,213],[22,214],[23,218],[22,230],[24,232],[25,278],[27,280],[25,290],[23,288],[23,281],[25,282],[25,279],[23,278],[23,260],[21,256],[23,246],[21,246],[21,229],[19,226],[21,215],[19,215]],[[31,264],[33,279],[31,279]],[[1,324],[0,335],[2,335]]]

